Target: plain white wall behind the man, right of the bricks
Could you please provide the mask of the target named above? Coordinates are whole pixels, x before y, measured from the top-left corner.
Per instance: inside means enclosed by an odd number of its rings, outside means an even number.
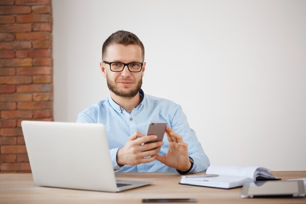
[[[53,0],[54,117],[109,96],[113,32],[146,48],[143,90],[183,107],[214,164],[306,170],[305,0]]]

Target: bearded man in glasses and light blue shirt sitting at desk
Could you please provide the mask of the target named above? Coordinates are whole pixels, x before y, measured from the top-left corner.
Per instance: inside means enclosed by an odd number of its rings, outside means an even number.
[[[181,107],[141,90],[146,68],[144,56],[144,46],[136,35],[122,30],[111,34],[102,46],[100,63],[110,97],[79,113],[77,122],[106,126],[117,172],[205,171],[209,159]],[[143,134],[153,121],[167,122],[167,138],[146,144],[156,138]]]

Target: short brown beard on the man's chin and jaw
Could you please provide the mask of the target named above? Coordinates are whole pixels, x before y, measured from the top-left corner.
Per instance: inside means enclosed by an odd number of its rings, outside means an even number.
[[[140,91],[141,86],[142,86],[142,77],[137,82],[136,87],[134,89],[132,89],[131,91],[124,91],[123,89],[120,90],[113,81],[109,80],[108,76],[106,77],[106,81],[107,81],[107,84],[108,84],[108,87],[109,87],[110,91],[112,91],[117,96],[121,96],[121,97],[124,97],[124,98],[134,97],[135,95],[138,94],[138,92]]]

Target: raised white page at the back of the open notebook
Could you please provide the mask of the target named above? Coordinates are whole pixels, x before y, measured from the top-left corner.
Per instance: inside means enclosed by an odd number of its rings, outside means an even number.
[[[239,176],[254,180],[254,174],[257,168],[257,166],[211,165],[208,167],[206,174]]]

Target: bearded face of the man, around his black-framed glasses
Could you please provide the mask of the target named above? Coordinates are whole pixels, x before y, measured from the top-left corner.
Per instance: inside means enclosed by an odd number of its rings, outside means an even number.
[[[112,44],[107,48],[104,60],[107,62],[142,63],[141,48],[138,45]],[[106,77],[109,90],[121,97],[131,98],[138,94],[142,85],[146,63],[143,64],[140,72],[130,72],[125,67],[121,72],[113,72],[109,65],[100,63],[102,74]]]

